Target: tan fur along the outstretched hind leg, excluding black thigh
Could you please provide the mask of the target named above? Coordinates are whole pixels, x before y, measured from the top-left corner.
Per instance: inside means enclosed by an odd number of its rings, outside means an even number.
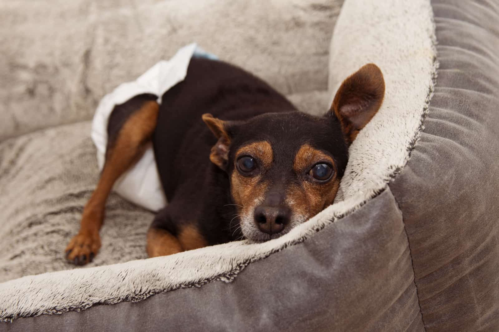
[[[115,181],[133,166],[146,150],[146,143],[156,127],[158,110],[158,103],[145,102],[128,118],[119,131],[113,149],[106,156],[97,188],[83,209],[80,230],[66,247],[66,252],[71,250],[67,256],[70,261],[85,255],[84,263],[87,263],[90,253],[97,254],[100,248],[99,229],[104,222],[107,197]]]

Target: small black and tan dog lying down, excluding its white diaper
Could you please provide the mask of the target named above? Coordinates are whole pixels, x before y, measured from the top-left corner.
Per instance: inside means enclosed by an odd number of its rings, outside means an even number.
[[[193,58],[161,106],[140,95],[113,110],[106,162],[67,259],[83,265],[97,254],[113,184],[151,141],[169,204],[148,231],[150,257],[281,236],[333,203],[348,147],[384,92],[381,71],[367,64],[326,115],[311,116],[238,67]]]

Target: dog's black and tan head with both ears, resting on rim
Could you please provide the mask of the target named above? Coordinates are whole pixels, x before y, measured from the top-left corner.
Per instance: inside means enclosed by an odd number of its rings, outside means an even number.
[[[293,111],[223,121],[203,115],[218,138],[210,160],[229,175],[246,238],[279,237],[333,203],[348,146],[384,93],[380,69],[368,64],[342,83],[323,117]]]

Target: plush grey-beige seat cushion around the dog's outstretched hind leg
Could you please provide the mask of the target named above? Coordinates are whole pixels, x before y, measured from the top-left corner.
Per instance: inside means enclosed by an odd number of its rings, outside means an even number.
[[[90,123],[39,130],[0,143],[0,282],[74,268],[64,248],[99,176]],[[147,258],[153,214],[112,194],[100,254],[88,266]]]

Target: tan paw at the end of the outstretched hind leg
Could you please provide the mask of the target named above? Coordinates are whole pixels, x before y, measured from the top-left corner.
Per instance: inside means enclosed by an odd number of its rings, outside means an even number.
[[[66,259],[75,265],[90,263],[100,248],[100,236],[81,234],[74,236],[66,247]]]

